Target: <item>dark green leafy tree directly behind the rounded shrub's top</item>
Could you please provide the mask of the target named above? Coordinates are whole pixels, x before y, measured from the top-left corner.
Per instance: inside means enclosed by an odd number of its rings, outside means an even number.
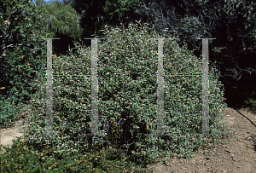
[[[74,0],[73,8],[81,16],[81,26],[84,28],[83,37],[102,37],[102,27],[128,26],[130,21],[140,20],[143,22],[147,18],[143,18],[134,12],[135,2],[138,0]],[[84,41],[89,46],[90,40]]]

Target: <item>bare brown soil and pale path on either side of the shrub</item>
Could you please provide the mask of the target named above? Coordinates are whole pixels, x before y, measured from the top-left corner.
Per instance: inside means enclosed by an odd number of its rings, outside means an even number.
[[[240,112],[256,124],[255,112]],[[155,164],[147,165],[148,170],[160,173],[255,173],[256,172],[256,127],[233,108],[224,109],[224,119],[233,135],[224,136],[216,145],[202,147],[195,153],[193,159],[170,159],[169,162],[156,160]],[[24,119],[14,127],[0,130],[3,146],[11,146],[16,136],[22,136],[19,128],[24,125]]]

